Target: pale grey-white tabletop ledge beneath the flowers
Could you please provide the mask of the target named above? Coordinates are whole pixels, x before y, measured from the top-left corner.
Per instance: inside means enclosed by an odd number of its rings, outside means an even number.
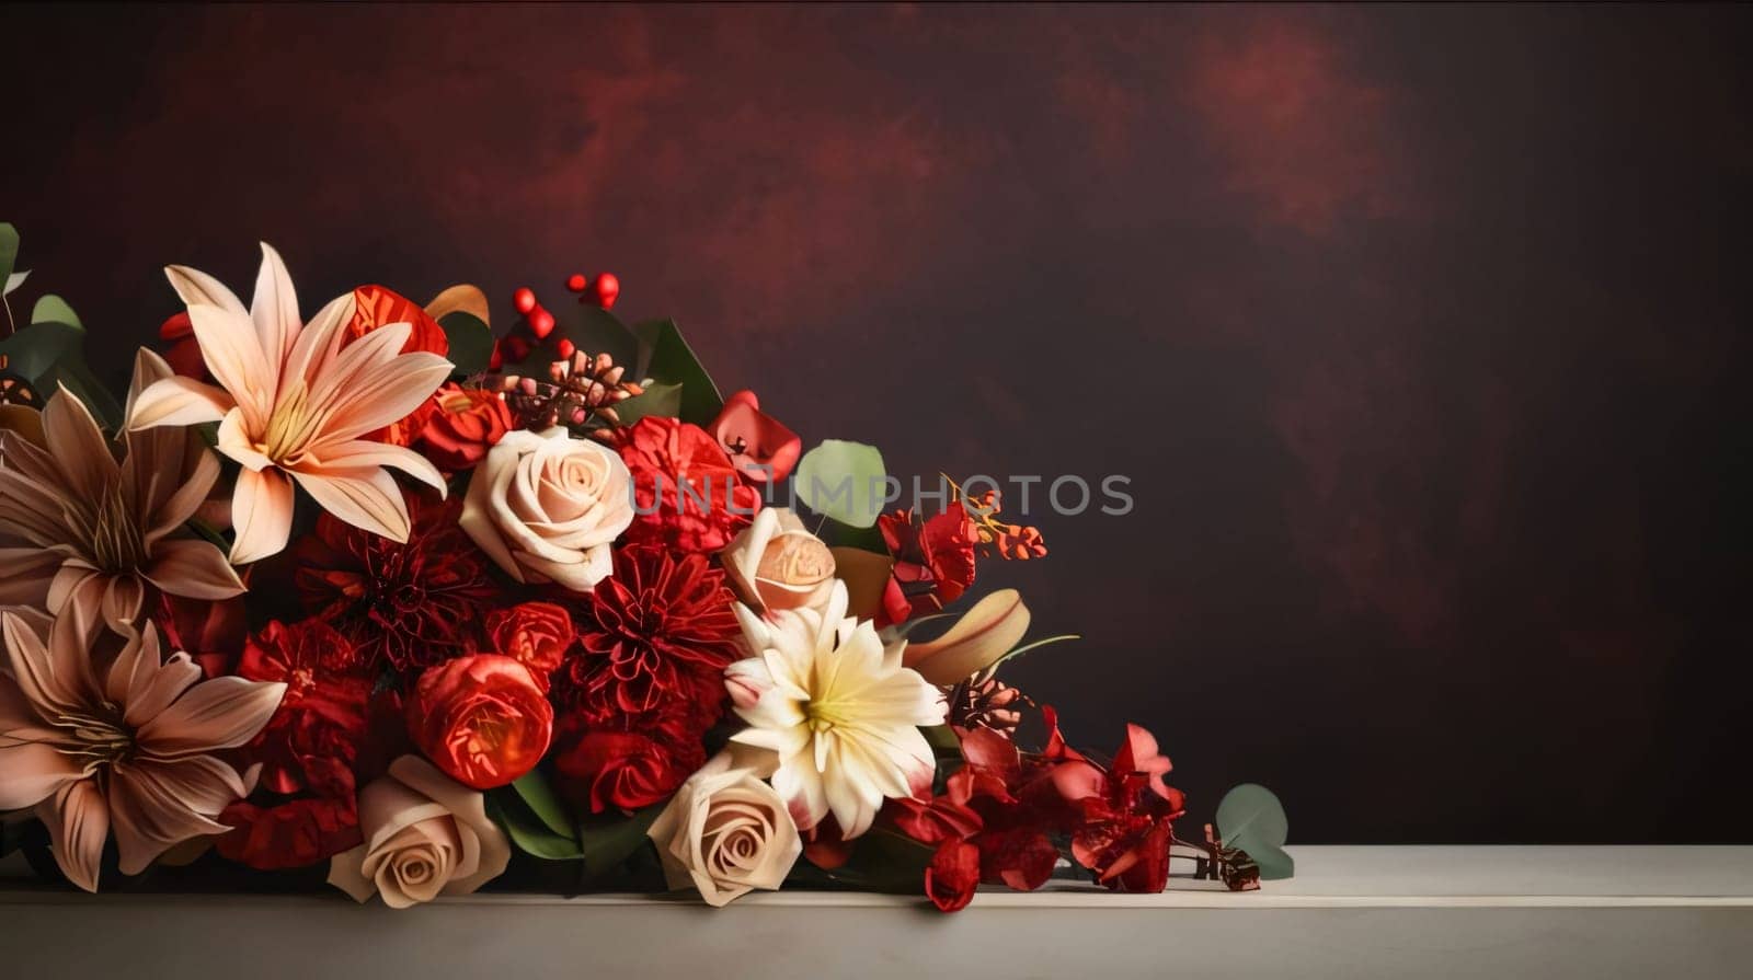
[[[4,976],[1753,976],[1753,847],[1292,847],[1259,892],[84,896],[0,884]]]

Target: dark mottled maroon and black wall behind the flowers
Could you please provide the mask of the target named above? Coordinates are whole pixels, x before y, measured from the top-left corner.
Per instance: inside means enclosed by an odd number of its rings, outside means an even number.
[[[1748,11],[0,12],[26,293],[119,370],[280,247],[612,268],[896,473],[1125,473],[989,575],[1194,812],[1301,842],[1753,842]]]

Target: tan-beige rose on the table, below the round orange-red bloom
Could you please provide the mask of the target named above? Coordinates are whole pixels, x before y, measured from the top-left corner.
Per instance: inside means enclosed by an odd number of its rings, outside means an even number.
[[[389,908],[470,894],[512,857],[480,792],[419,756],[359,791],[359,831],[365,843],[331,857],[328,880],[356,901],[380,894]]]

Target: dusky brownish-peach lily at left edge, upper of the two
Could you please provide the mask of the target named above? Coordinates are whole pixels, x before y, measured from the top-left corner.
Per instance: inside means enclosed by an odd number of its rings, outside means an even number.
[[[172,377],[140,351],[130,398]],[[135,622],[149,587],[189,600],[244,593],[224,554],[182,533],[219,479],[195,433],[123,438],[116,461],[91,412],[65,387],[42,408],[42,435],[0,431],[0,605],[51,614],[72,598],[110,622]]]

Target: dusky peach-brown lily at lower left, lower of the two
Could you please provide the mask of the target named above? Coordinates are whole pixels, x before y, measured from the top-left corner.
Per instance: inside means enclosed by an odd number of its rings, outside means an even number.
[[[165,850],[226,833],[217,822],[249,785],[216,752],[237,749],[280,705],[284,684],[202,680],[188,654],[160,661],[158,629],[123,624],[119,654],[98,670],[84,610],[0,614],[0,810],[35,806],[54,861],[98,887],[103,842],[137,875]]]

